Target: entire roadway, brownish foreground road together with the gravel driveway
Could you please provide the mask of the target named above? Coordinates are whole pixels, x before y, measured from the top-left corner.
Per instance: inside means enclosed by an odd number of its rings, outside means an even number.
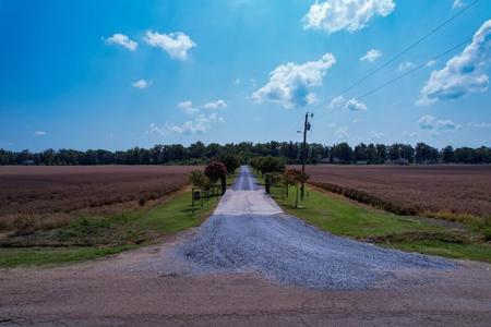
[[[242,167],[197,229],[103,261],[0,270],[0,326],[489,326],[490,267],[321,232]]]

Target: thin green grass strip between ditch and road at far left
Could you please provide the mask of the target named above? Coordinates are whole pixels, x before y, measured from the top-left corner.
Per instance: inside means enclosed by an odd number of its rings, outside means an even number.
[[[134,247],[125,245],[110,247],[0,249],[0,267],[56,266],[79,263]]]

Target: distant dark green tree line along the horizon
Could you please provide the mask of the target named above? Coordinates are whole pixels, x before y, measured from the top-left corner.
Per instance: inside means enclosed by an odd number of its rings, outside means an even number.
[[[446,146],[442,149],[418,143],[409,144],[359,144],[347,143],[332,146],[311,143],[307,146],[307,164],[490,164],[491,148]],[[189,146],[180,144],[155,145],[152,148],[134,147],[128,150],[105,149],[46,149],[39,153],[29,150],[11,152],[0,149],[0,165],[206,165],[225,155],[239,156],[242,162],[254,157],[284,157],[288,165],[300,164],[301,143],[228,143],[220,145],[202,142]]]

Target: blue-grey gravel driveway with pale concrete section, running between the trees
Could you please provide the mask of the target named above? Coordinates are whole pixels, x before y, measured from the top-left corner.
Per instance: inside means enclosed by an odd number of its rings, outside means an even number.
[[[193,272],[259,272],[280,283],[321,289],[364,289],[395,270],[455,266],[320,231],[284,214],[246,166],[214,215],[175,255]]]

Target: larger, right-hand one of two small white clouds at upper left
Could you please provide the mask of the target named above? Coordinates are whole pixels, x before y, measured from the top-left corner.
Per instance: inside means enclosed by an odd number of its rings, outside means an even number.
[[[196,44],[184,33],[176,32],[169,34],[159,34],[158,32],[147,31],[144,40],[152,47],[157,47],[169,53],[170,58],[185,60],[188,51]]]

